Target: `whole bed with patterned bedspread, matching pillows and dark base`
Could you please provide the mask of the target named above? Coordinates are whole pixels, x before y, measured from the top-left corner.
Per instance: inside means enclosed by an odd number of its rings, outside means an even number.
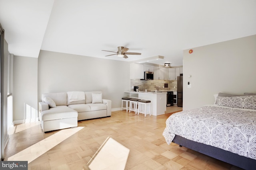
[[[180,143],[196,142],[184,147],[193,149],[193,145],[205,144],[197,148],[201,150],[207,145],[228,151],[227,154],[232,152],[230,158],[220,160],[244,169],[256,168],[256,96],[218,96],[214,105],[174,113],[166,120],[163,136],[168,144],[177,136],[181,137]],[[216,155],[208,152],[203,153],[221,157],[219,151]],[[240,166],[237,160],[230,162],[234,154],[239,155],[238,160],[248,160],[249,165]]]

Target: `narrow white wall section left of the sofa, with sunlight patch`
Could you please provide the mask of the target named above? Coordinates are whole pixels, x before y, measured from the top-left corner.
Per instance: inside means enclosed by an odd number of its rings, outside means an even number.
[[[35,121],[38,117],[37,65],[33,57],[13,59],[13,120],[14,124]]]

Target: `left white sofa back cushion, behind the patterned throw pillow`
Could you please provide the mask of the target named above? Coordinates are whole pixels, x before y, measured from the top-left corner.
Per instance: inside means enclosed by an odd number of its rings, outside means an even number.
[[[44,101],[44,97],[49,97],[51,98],[56,106],[67,106],[67,93],[62,92],[62,93],[44,93],[42,94],[42,101]]]

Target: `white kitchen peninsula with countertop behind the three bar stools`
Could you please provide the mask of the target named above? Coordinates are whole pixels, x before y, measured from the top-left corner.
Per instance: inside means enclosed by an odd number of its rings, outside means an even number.
[[[126,91],[130,98],[138,98],[141,100],[151,101],[151,115],[163,115],[166,111],[166,92],[134,92]]]

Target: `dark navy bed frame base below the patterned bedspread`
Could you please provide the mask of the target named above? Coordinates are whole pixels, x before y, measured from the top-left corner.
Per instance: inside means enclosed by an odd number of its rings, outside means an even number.
[[[206,154],[208,156],[211,156],[212,158],[216,158],[223,162],[238,166],[239,168],[243,168],[246,170],[256,170],[256,160],[252,158],[247,158],[223,149],[212,147],[210,145],[191,141],[178,135],[175,135],[172,142],[180,146],[195,150],[202,154]]]

